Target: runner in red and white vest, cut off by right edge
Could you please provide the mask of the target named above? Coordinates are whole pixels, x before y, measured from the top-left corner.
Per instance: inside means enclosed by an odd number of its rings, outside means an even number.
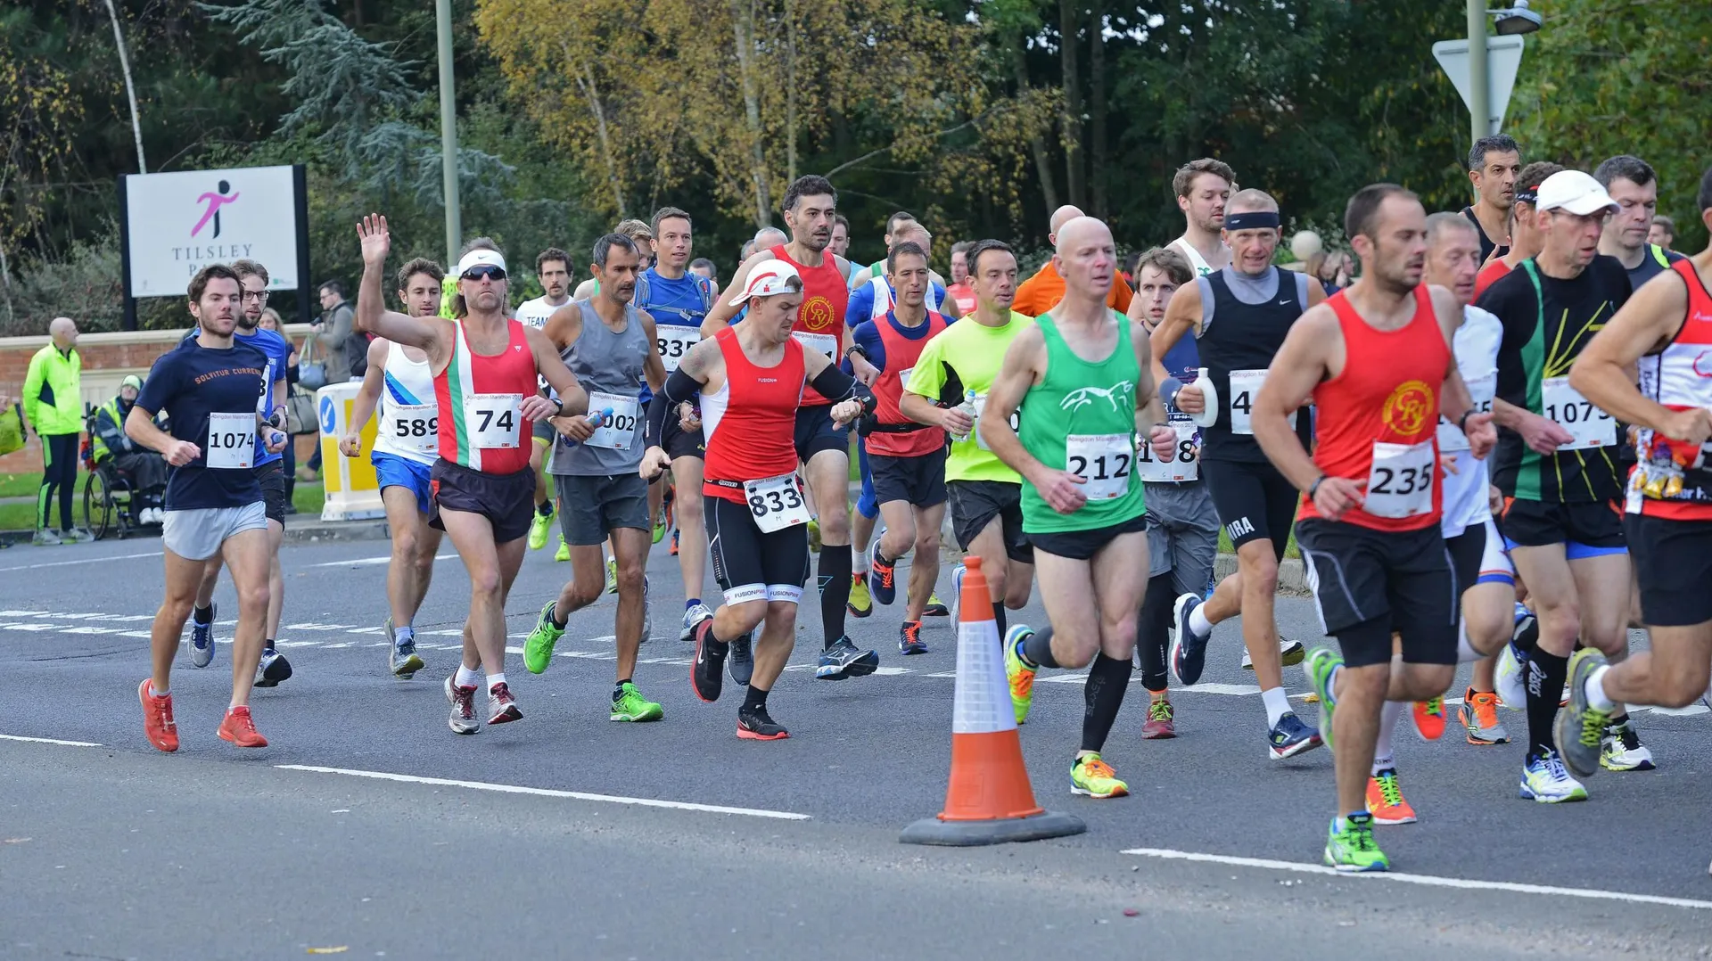
[[[1700,176],[1700,223],[1712,228],[1712,168]],[[1671,264],[1623,305],[1570,368],[1570,385],[1638,428],[1626,514],[1649,651],[1606,665],[1587,649],[1570,661],[1570,704],[1556,719],[1565,764],[1587,776],[1604,762],[1604,731],[1623,704],[1686,707],[1712,672],[1712,245]],[[1640,387],[1630,370],[1640,365]]]

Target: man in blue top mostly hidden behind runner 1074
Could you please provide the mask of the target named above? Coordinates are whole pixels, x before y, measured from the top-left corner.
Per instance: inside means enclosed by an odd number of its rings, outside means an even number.
[[[255,260],[235,260],[231,266],[243,284],[243,308],[238,312],[233,336],[267,355],[265,389],[257,411],[277,428],[286,427],[286,368],[291,367],[291,344],[274,331],[259,327],[267,310],[267,267]],[[192,337],[195,331],[192,331]],[[190,339],[190,337],[187,337]],[[274,649],[279,637],[279,615],[286,606],[286,576],[279,569],[279,545],[286,540],[286,471],[284,456],[265,449],[265,437],[255,440],[255,480],[262,485],[262,502],[267,507],[267,625],[262,634],[262,658],[255,668],[255,687],[277,687],[291,677],[291,661]],[[190,617],[190,663],[205,668],[214,660],[214,584],[219,582],[221,555],[209,557],[197,588],[197,601]]]

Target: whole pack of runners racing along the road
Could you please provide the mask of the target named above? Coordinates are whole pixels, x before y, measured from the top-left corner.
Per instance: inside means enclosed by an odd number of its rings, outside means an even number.
[[[1128,793],[1103,752],[1132,673],[1149,692],[1142,737],[1174,737],[1169,678],[1197,683],[1212,627],[1241,618],[1269,757],[1335,745],[1329,865],[1388,867],[1373,826],[1414,821],[1392,731],[1409,713],[1442,737],[1462,661],[1476,663],[1467,740],[1508,742],[1496,709],[1524,711],[1520,795],[1585,800],[1577,776],[1654,766],[1623,706],[1685,706],[1712,670],[1712,601],[1695,589],[1712,564],[1712,387],[1697,367],[1712,252],[1649,245],[1657,180],[1637,158],[1592,175],[1524,166],[1493,137],[1469,161],[1481,199],[1462,212],[1428,216],[1387,183],[1358,192],[1344,228],[1361,274],[1332,296],[1274,266],[1277,200],[1217,159],[1173,178],[1185,233],[1140,255],[1133,288],[1111,230],[1075,207],[1053,212],[1053,257],[1024,283],[1014,252],[981,240],[957,245],[947,284],[909,214],[889,219],[887,257],[856,267],[834,250],[849,235],[835,190],[810,175],[784,195],[782,242],[757,236],[724,293],[690,269],[690,214],[663,207],[596,240],[584,296],[567,295],[572,257],[541,252],[544,296],[515,313],[505,257],[471,242],[449,322],[430,260],[397,271],[404,312],[385,308],[390,238],[368,216],[356,327],[377,339],[341,449],[361,456],[378,413],[389,670],[425,670],[413,622],[450,534],[471,601],[449,726],[483,726],[483,690],[488,725],[519,719],[505,600],[556,517],[570,579],[541,608],[526,668],[544,672],[568,615],[613,591],[611,719],[659,719],[635,668],[652,632],[649,546],[675,521],[695,694],[717,701],[729,673],[746,689],[738,737],[784,738],[767,699],[794,646],[810,528],[815,677],[842,680],[880,665],[846,618],[897,603],[911,553],[899,653],[926,651],[948,514],[983,560],[1017,723],[1039,670],[1087,672],[1075,793]],[[1698,204],[1712,224],[1712,171]],[[253,331],[257,272],[265,291],[260,266],[197,274],[197,332],[127,421],[175,468],[166,601],[139,689],[161,750],[178,745],[168,682],[187,618],[192,663],[212,660],[221,560],[240,603],[221,737],[265,745],[250,687],[291,670],[272,651],[284,355]],[[151,420],[163,409],[168,432]],[[1216,582],[1221,533],[1236,569]],[[1335,649],[1279,637],[1293,533]],[[717,605],[700,596],[707,560]],[[960,579],[957,565],[954,598]],[[1048,624],[1008,624],[1036,579]],[[1649,653],[1626,656],[1632,622],[1652,632]],[[1318,726],[1282,685],[1305,658]]]

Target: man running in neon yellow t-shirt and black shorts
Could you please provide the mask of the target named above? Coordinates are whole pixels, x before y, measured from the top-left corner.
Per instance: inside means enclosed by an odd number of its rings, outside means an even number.
[[[940,427],[952,439],[945,459],[952,536],[964,553],[981,558],[981,572],[995,600],[993,620],[1003,636],[1005,608],[1022,610],[1029,603],[1034,548],[1022,533],[1022,475],[993,454],[976,427],[1005,361],[1005,349],[1034,319],[1010,308],[1017,291],[1017,255],[1010,247],[996,240],[971,247],[969,279],[976,295],[974,313],[921,348],[897,406],[904,416]],[[962,569],[959,564],[952,570],[952,591],[959,600]]]

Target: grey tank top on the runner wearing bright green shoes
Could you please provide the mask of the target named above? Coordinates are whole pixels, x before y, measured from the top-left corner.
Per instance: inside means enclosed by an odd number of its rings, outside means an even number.
[[[642,365],[654,343],[642,331],[640,312],[628,303],[623,331],[608,327],[587,300],[579,300],[577,307],[582,310],[582,334],[558,351],[558,356],[589,392],[589,415],[613,408],[615,421],[584,444],[572,445],[565,435],[555,433],[548,473],[567,476],[635,473],[642,466],[645,449],[642,440],[645,415],[639,401],[645,384]],[[618,445],[606,447],[601,445],[603,440]]]

